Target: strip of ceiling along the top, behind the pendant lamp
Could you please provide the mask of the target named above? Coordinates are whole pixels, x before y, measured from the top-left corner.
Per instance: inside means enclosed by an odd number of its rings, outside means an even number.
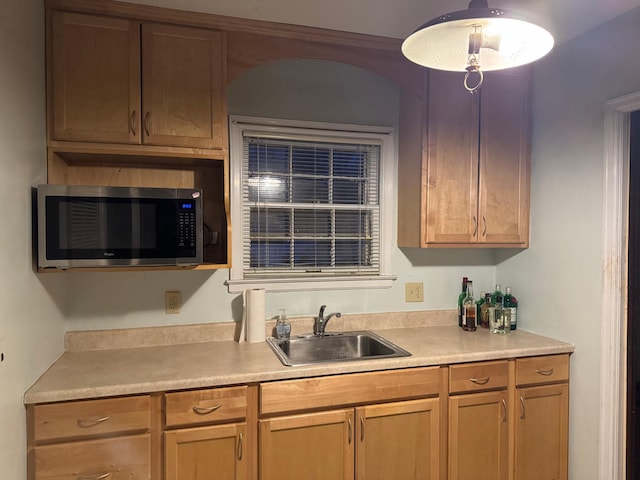
[[[468,0],[126,1],[392,38],[404,38],[426,21],[468,5]],[[640,7],[640,0],[489,0],[489,6],[526,15],[562,43]]]

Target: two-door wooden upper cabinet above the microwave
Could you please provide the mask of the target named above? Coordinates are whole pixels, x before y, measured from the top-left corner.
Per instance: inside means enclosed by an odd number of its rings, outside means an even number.
[[[224,148],[223,34],[53,11],[50,138]]]

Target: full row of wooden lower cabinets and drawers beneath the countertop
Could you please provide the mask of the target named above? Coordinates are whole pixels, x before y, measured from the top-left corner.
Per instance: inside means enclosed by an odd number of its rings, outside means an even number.
[[[28,405],[29,480],[567,480],[569,355]]]

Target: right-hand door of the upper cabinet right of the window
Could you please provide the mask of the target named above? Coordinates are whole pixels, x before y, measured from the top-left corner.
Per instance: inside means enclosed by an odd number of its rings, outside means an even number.
[[[528,67],[490,72],[481,88],[480,243],[528,245],[530,78]]]

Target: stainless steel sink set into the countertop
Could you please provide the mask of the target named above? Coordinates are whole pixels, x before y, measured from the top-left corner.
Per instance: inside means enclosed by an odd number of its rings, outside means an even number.
[[[268,338],[267,343],[287,366],[310,363],[408,357],[411,354],[369,331],[301,335],[289,340]]]

